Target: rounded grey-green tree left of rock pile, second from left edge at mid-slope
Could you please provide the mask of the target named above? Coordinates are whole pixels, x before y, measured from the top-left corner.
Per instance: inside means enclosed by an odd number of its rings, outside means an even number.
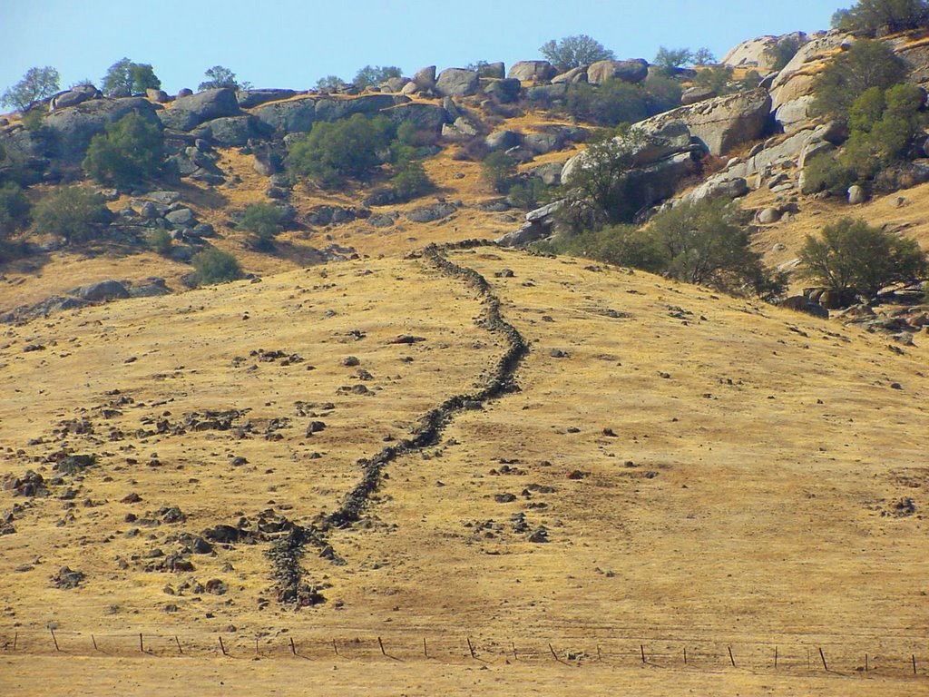
[[[111,219],[103,198],[79,186],[48,193],[33,209],[34,229],[59,235],[68,244],[92,239]]]

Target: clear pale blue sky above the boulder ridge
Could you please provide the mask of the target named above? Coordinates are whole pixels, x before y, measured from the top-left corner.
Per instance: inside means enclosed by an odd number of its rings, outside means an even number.
[[[412,74],[477,60],[538,59],[549,39],[586,33],[618,58],[659,46],[717,58],[763,34],[829,28],[852,0],[0,0],[0,90],[33,66],[61,86],[99,84],[116,60],[150,63],[170,93],[223,65],[255,86],[307,89],[364,65]]]

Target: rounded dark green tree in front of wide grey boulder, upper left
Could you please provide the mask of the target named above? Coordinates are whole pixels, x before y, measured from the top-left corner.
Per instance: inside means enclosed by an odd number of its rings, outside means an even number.
[[[94,136],[83,166],[101,184],[128,188],[158,174],[164,163],[164,135],[135,112]]]

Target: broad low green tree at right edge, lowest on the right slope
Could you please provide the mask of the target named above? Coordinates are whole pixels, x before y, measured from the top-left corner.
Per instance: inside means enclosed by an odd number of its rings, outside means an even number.
[[[853,290],[868,298],[888,285],[915,283],[926,274],[926,256],[919,244],[850,217],[827,225],[819,239],[807,235],[800,263],[806,278],[839,293]]]

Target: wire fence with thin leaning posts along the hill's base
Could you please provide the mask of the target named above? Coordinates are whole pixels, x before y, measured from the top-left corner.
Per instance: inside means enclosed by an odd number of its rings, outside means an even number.
[[[929,681],[926,638],[860,638],[818,643],[758,643],[712,639],[639,638],[501,639],[412,633],[382,636],[300,636],[280,629],[263,636],[242,633],[165,635],[156,633],[0,630],[0,651],[23,654],[123,657],[226,657],[309,661],[438,661],[444,663],[541,663],[645,665],[689,670],[745,670],[797,676],[910,677]]]

